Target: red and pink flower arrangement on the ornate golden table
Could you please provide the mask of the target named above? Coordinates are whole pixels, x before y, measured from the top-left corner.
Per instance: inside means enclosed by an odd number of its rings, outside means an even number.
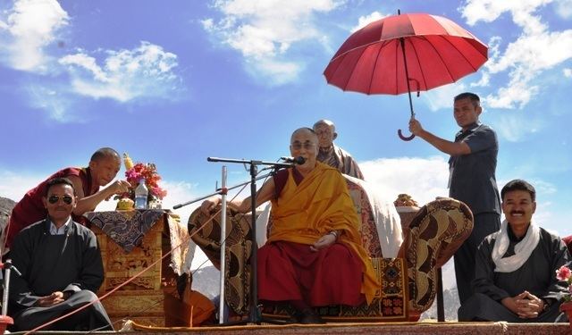
[[[134,189],[139,185],[141,178],[145,179],[145,186],[149,190],[149,199],[157,198],[163,199],[167,195],[167,191],[159,187],[159,180],[161,176],[157,173],[156,165],[154,163],[136,163],[133,164],[131,158],[127,153],[123,154],[123,163],[125,164],[125,177],[131,184],[130,191],[122,194],[121,197],[134,198]]]

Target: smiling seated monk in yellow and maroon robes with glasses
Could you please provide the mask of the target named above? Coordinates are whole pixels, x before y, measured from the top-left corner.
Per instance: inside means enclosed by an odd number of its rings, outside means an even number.
[[[295,322],[323,322],[311,307],[370,303],[380,283],[361,245],[358,218],[346,181],[336,169],[316,162],[318,138],[300,128],[290,138],[290,154],[306,162],[278,172],[257,193],[257,205],[272,201],[273,225],[258,250],[258,297],[290,303]],[[219,204],[211,197],[206,213]],[[250,197],[229,204],[250,209]]]

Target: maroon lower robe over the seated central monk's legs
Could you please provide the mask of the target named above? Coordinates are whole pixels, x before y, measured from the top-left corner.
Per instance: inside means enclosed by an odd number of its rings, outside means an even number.
[[[257,257],[260,300],[304,300],[309,306],[365,301],[361,260],[341,243],[314,252],[308,245],[277,241],[258,249]]]

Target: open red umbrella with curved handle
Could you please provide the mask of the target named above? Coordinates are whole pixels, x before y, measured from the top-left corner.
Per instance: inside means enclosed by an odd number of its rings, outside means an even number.
[[[398,12],[399,13],[399,12]],[[357,30],[341,45],[324,71],[329,84],[344,91],[398,95],[436,88],[475,72],[488,47],[457,23],[441,16],[392,15]],[[400,138],[405,138],[398,130]]]

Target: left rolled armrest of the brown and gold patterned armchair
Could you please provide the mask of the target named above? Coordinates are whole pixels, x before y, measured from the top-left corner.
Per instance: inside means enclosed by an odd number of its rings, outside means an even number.
[[[219,206],[220,209],[220,206]],[[227,208],[226,248],[224,253],[224,300],[235,314],[248,314],[250,264],[252,250],[249,216]],[[210,216],[196,209],[189,217],[189,234],[206,257],[221,269],[221,214]],[[202,229],[201,229],[202,228]],[[197,233],[195,233],[198,230]]]

